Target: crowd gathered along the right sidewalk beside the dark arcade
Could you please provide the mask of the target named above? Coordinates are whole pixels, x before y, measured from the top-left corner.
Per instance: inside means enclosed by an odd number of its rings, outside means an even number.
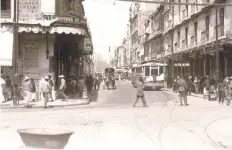
[[[186,83],[186,94],[202,94],[204,99],[208,99],[209,101],[218,99],[219,103],[223,104],[226,100],[227,105],[230,105],[232,99],[232,77],[221,79],[218,84],[214,79],[210,79],[209,76],[205,76],[201,79],[183,76],[182,79]],[[180,92],[180,80],[181,78],[179,76],[174,80],[173,91]]]

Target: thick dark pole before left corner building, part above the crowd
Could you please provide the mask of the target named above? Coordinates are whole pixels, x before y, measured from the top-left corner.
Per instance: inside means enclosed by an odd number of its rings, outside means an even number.
[[[14,0],[14,13],[13,13],[13,70],[14,74],[17,73],[17,49],[18,49],[18,7],[17,0]]]

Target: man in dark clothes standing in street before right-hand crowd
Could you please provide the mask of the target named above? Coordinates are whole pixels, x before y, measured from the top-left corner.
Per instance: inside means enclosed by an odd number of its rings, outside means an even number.
[[[187,86],[187,83],[182,76],[177,81],[177,89],[179,91],[179,96],[180,96],[180,105],[183,106],[182,99],[184,99],[185,106],[188,106],[189,105],[187,103],[188,86]]]

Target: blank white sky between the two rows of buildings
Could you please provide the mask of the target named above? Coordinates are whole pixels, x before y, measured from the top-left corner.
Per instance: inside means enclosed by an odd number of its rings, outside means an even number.
[[[113,52],[126,36],[130,3],[114,0],[85,0],[83,5],[92,33],[94,52],[109,61],[109,47]]]

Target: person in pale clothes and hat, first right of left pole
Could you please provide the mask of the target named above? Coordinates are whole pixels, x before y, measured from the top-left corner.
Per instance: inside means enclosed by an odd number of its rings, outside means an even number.
[[[24,83],[23,83],[23,97],[24,100],[26,100],[26,106],[28,106],[29,101],[31,100],[31,91],[32,91],[32,84],[30,81],[30,77],[26,76],[24,78]]]

